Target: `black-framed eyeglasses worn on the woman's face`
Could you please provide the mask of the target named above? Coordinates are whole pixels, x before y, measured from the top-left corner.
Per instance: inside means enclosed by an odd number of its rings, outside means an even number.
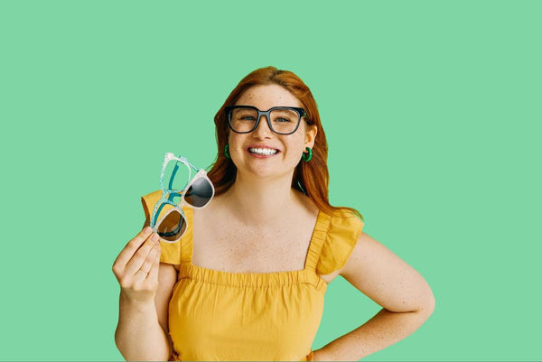
[[[252,106],[225,107],[229,128],[238,134],[248,134],[259,125],[260,116],[265,115],[269,129],[279,135],[293,134],[301,122],[302,116],[307,116],[304,108],[272,107],[260,111]]]

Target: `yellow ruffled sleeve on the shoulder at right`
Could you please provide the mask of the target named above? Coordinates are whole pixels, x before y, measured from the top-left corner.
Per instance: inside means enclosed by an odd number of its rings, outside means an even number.
[[[342,212],[342,215],[330,218],[330,226],[316,265],[317,274],[332,274],[341,269],[358,242],[363,221],[350,210]]]

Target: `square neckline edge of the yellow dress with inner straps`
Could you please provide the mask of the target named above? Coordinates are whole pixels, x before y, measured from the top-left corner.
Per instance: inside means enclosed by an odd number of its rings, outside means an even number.
[[[189,269],[192,269],[192,270],[200,270],[201,273],[204,273],[204,274],[215,274],[215,275],[226,275],[226,276],[229,276],[229,277],[241,277],[241,276],[245,276],[245,275],[252,275],[253,277],[255,278],[258,278],[258,277],[266,277],[266,276],[272,276],[272,275],[294,275],[294,274],[306,274],[308,272],[310,272],[310,267],[309,267],[309,257],[311,255],[311,251],[314,249],[315,246],[315,235],[316,235],[316,231],[318,229],[318,226],[319,226],[319,222],[322,222],[322,219],[324,218],[325,214],[322,212],[321,209],[318,209],[318,214],[316,215],[316,221],[314,222],[314,226],[313,226],[313,232],[311,234],[311,239],[309,241],[309,246],[307,247],[307,252],[306,252],[306,255],[305,255],[305,259],[304,259],[304,267],[303,269],[297,269],[297,270],[285,270],[285,271],[277,271],[277,272],[267,272],[267,273],[238,273],[238,272],[228,272],[228,271],[223,271],[223,270],[217,270],[217,269],[210,269],[208,267],[205,267],[205,266],[200,266],[200,265],[194,265],[193,264],[193,254],[194,254],[194,243],[193,243],[193,218],[194,218],[194,214],[193,214],[193,209],[190,208],[190,207],[182,207],[185,215],[187,216],[187,219],[189,221],[189,228],[190,228],[190,231],[188,234],[190,234],[190,237],[188,237],[187,239],[190,240],[190,246],[189,246],[189,250],[190,250],[190,259],[188,260],[188,262],[184,262],[181,264],[182,265],[185,265],[185,266],[188,266]],[[189,210],[187,212],[187,209]],[[190,217],[189,215],[190,214]],[[321,246],[320,246],[321,247]],[[318,254],[320,254],[320,250],[318,250]],[[313,265],[313,267],[315,267],[316,265]],[[319,279],[322,279],[322,281],[327,285],[327,282],[325,282],[325,280],[318,274],[316,274],[315,270],[313,271],[313,274],[315,274]]]

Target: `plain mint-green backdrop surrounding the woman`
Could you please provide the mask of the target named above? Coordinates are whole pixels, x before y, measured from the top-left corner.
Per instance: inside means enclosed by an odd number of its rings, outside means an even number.
[[[436,309],[367,360],[540,360],[539,1],[0,2],[3,360],[122,360],[113,261],[166,151],[267,65],[313,91],[332,205]],[[341,277],[313,349],[379,310]]]

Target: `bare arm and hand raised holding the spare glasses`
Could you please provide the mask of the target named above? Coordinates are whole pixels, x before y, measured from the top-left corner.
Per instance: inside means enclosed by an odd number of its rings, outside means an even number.
[[[153,246],[151,237],[139,233],[113,265],[121,286],[115,342],[126,360],[165,361],[173,352],[167,311],[177,272],[159,263],[160,246]]]

